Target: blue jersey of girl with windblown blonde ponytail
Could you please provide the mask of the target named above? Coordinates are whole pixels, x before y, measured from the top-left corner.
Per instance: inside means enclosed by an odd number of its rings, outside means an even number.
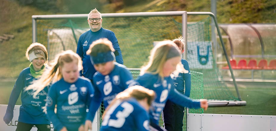
[[[62,78],[54,83],[50,87],[46,102],[47,115],[54,128],[61,130],[62,127],[66,127],[68,131],[78,130],[86,119],[93,121],[86,112],[93,95],[93,86],[87,78],[79,77],[74,83],[68,83]]]

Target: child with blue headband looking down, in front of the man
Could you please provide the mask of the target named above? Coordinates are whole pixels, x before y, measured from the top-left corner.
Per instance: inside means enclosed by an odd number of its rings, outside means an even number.
[[[92,100],[91,116],[94,118],[101,101],[104,107],[115,98],[115,96],[128,88],[133,81],[130,71],[124,65],[114,62],[114,48],[108,39],[99,39],[91,44],[87,55],[90,55],[91,62],[96,69],[93,76],[95,96]],[[91,129],[91,123],[88,123]]]

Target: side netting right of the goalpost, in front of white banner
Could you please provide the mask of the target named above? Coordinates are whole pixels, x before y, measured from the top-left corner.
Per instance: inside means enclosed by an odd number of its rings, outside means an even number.
[[[203,73],[204,98],[208,100],[239,100],[235,89],[229,89],[213,58],[210,19],[188,24],[187,60],[191,70]]]

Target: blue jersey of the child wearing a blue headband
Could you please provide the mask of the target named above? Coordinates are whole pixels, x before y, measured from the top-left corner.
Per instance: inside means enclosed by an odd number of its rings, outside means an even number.
[[[104,106],[107,107],[109,103],[116,97],[116,95],[133,82],[130,71],[124,65],[114,63],[114,69],[108,75],[102,75],[96,72],[93,77],[93,86],[95,88],[95,96],[92,100],[91,110],[92,118],[94,118],[101,101],[104,101]]]

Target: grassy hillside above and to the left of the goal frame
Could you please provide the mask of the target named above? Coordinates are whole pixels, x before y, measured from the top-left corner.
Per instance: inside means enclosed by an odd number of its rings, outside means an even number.
[[[114,0],[115,1],[115,0]],[[118,0],[119,1],[119,0]],[[32,43],[32,15],[55,14],[33,6],[19,5],[15,0],[0,0],[0,36],[14,35],[14,39],[0,43],[0,78],[17,78],[23,68],[29,66],[24,54]],[[59,3],[60,4],[60,3]],[[62,4],[62,3],[61,3]],[[83,3],[85,4],[85,3]],[[103,4],[101,13],[153,12],[153,11],[210,11],[211,0],[143,0],[132,6],[123,2]],[[91,8],[94,5],[91,5]],[[72,5],[70,6],[72,7]],[[81,6],[76,9],[82,8]],[[97,7],[98,8],[98,7]],[[89,10],[88,10],[89,11]],[[88,13],[87,11],[87,13]],[[72,14],[74,12],[58,12]],[[218,0],[219,23],[263,23],[276,21],[276,1],[272,0]],[[197,21],[202,16],[189,16],[188,21]],[[180,19],[180,18],[179,18]],[[46,43],[42,43],[46,44]]]

